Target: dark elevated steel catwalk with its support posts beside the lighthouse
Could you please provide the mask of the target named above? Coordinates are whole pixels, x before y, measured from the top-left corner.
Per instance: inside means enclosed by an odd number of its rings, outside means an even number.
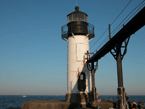
[[[130,39],[130,36],[138,31],[145,25],[145,7],[141,9],[123,28],[116,33],[112,38],[109,34],[109,41],[98,51],[96,52],[91,58],[87,60],[88,69],[92,72],[92,95],[95,102],[95,77],[94,77],[94,62],[97,62],[98,67],[98,60],[101,59],[104,55],[108,52],[112,54],[114,59],[117,62],[117,76],[118,76],[118,108],[125,109],[125,88],[123,86],[123,75],[122,75],[122,59],[127,52],[127,45]],[[110,28],[110,27],[109,27]],[[110,29],[109,29],[110,33]],[[124,46],[123,46],[124,43]],[[123,53],[121,52],[121,48],[124,48]],[[89,55],[89,53],[87,52]]]

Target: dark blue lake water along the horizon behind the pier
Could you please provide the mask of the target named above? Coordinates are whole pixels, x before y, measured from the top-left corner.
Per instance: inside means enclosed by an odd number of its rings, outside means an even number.
[[[145,96],[134,96],[128,95],[130,101],[139,102],[140,100],[145,103]],[[21,105],[23,102],[30,100],[65,100],[65,95],[26,95],[23,97],[22,95],[0,95],[0,109],[21,109]],[[115,95],[100,95],[98,99],[112,99],[116,100],[117,96]]]

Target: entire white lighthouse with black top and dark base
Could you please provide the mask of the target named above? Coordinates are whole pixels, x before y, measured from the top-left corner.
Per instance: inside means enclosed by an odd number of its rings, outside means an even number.
[[[88,15],[75,11],[67,15],[68,23],[62,26],[62,39],[68,41],[67,94],[68,102],[87,102],[92,95],[92,77],[87,69],[86,53],[89,41],[94,38],[94,26],[88,23]]]

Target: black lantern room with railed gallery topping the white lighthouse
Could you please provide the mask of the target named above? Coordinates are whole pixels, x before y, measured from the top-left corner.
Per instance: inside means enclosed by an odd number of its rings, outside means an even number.
[[[73,35],[88,36],[89,40],[95,37],[94,26],[88,23],[88,15],[79,11],[79,7],[75,7],[75,11],[67,15],[67,24],[61,27],[62,39],[68,40]]]

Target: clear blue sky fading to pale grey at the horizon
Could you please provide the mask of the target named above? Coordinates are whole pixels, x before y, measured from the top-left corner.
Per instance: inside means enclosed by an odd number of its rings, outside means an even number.
[[[77,0],[80,11],[88,14],[88,22],[95,27],[95,38],[89,42],[91,52],[108,38],[107,30],[98,40],[129,1]],[[111,25],[111,32],[142,1],[132,0]],[[0,0],[0,95],[66,94],[67,41],[61,39],[61,27],[75,6],[76,0]],[[145,95],[144,29],[131,36],[122,60],[128,95]],[[98,64],[97,93],[117,95],[116,60],[108,53]]]

